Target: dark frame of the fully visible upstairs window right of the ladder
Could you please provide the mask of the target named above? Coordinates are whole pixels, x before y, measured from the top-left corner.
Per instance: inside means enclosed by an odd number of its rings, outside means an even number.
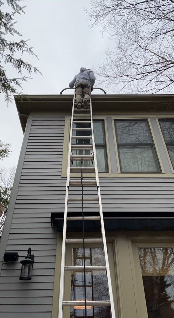
[[[150,139],[150,143],[119,143],[118,142],[118,132],[117,132],[117,127],[116,127],[116,122],[128,122],[128,121],[137,121],[137,122],[146,122],[146,127],[149,133],[149,139]],[[117,149],[117,155],[118,155],[118,170],[119,173],[122,174],[159,174],[159,173],[163,173],[162,167],[161,167],[161,162],[159,160],[159,155],[157,154],[157,145],[155,143],[155,140],[153,138],[153,134],[152,134],[152,128],[150,127],[149,124],[149,118],[144,117],[144,118],[114,118],[113,119],[113,126],[114,126],[114,133],[115,133],[115,141],[116,141],[116,149]],[[156,165],[156,169],[157,171],[122,171],[122,165],[121,165],[121,158],[120,158],[120,151],[119,148],[121,147],[125,147],[125,148],[147,148],[149,147],[150,149],[152,149],[152,154],[153,154],[153,158],[154,158],[154,162]]]

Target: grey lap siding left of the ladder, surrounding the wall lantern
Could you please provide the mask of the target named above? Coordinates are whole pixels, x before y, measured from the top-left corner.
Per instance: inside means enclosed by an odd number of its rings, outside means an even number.
[[[0,317],[51,318],[57,233],[50,214],[65,196],[66,180],[58,182],[63,132],[64,116],[33,116],[6,247],[18,251],[19,259],[2,266]],[[29,246],[35,264],[32,280],[25,282],[19,280],[20,261]]]

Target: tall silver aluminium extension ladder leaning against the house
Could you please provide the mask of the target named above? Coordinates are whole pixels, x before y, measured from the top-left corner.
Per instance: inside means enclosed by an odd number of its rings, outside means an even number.
[[[65,90],[65,89],[64,89]],[[103,89],[102,89],[103,90]],[[104,90],[103,90],[104,91]],[[96,155],[96,148],[95,148],[95,142],[94,142],[94,131],[93,131],[93,121],[92,121],[92,102],[91,102],[91,97],[90,97],[90,117],[91,117],[91,139],[92,139],[92,144],[88,145],[88,147],[86,145],[79,145],[81,147],[81,149],[85,149],[87,148],[87,150],[91,149],[93,151],[93,158],[94,158],[94,163],[95,163],[95,167],[94,172],[95,172],[95,182],[97,185],[97,191],[98,191],[98,205],[99,205],[99,215],[100,215],[100,223],[101,223],[101,234],[102,234],[102,238],[101,239],[66,239],[66,234],[67,234],[67,220],[70,219],[67,217],[68,214],[68,202],[75,202],[75,201],[79,201],[79,198],[69,198],[69,184],[70,184],[70,173],[71,171],[73,172],[73,167],[71,167],[71,151],[72,149],[78,149],[79,146],[77,145],[73,145],[72,144],[72,132],[73,132],[73,122],[76,122],[76,120],[74,121],[74,118],[76,118],[76,115],[74,114],[74,106],[75,106],[75,91],[74,91],[74,97],[73,97],[73,107],[72,107],[72,115],[71,115],[71,125],[70,125],[70,135],[69,135],[69,151],[68,151],[68,165],[67,165],[67,181],[66,181],[66,194],[65,194],[65,209],[64,209],[64,221],[63,221],[63,236],[62,236],[62,254],[61,254],[61,272],[60,272],[60,289],[59,289],[59,307],[58,307],[58,318],[62,318],[63,315],[63,306],[71,306],[74,302],[72,301],[63,301],[63,296],[64,296],[64,273],[67,270],[70,270],[72,268],[74,268],[73,266],[65,266],[65,255],[66,255],[66,244],[67,243],[73,243],[73,242],[82,242],[87,243],[87,242],[102,242],[103,243],[103,250],[104,250],[104,257],[105,257],[105,270],[106,270],[106,276],[107,276],[107,285],[108,285],[108,295],[109,295],[109,301],[91,301],[91,305],[95,306],[99,303],[101,303],[101,305],[110,305],[110,310],[111,310],[111,317],[112,318],[116,318],[115,317],[115,310],[114,310],[114,302],[113,302],[113,294],[112,294],[112,285],[111,285],[111,276],[110,276],[110,270],[109,270],[109,260],[108,260],[108,254],[107,254],[107,245],[106,245],[106,237],[105,237],[105,227],[104,227],[104,219],[103,219],[103,212],[102,212],[102,203],[101,203],[101,194],[100,194],[100,186],[99,186],[99,177],[98,177],[98,167],[97,167],[97,155]],[[74,117],[75,116],[75,117]],[[88,116],[88,115],[87,115]],[[80,117],[80,116],[79,116]],[[83,117],[83,115],[82,115]],[[84,115],[84,117],[86,117]],[[83,118],[84,118],[83,117]],[[77,121],[81,122],[81,121]],[[87,121],[85,121],[87,122]],[[83,121],[82,121],[83,123]],[[80,150],[81,150],[80,149]],[[74,167],[74,169],[76,170],[76,172],[81,172],[81,177],[83,176],[82,172],[83,170],[85,170],[85,167]],[[90,171],[91,167],[86,167],[86,170]],[[83,191],[83,185],[82,185],[82,191]],[[92,198],[93,200],[96,198]],[[82,193],[82,203],[83,201],[89,201],[91,200],[91,198],[83,198],[83,193]],[[86,217],[82,216],[83,221],[85,220]],[[84,248],[84,246],[83,246]],[[84,252],[84,251],[83,251]],[[85,256],[84,256],[85,257]],[[85,266],[83,266],[85,267]],[[66,268],[66,269],[65,269]],[[88,268],[88,267],[87,267]],[[90,269],[90,268],[88,268]],[[82,269],[81,269],[82,270]],[[85,271],[85,268],[84,268]],[[77,304],[77,302],[75,302],[75,304]],[[82,304],[82,302],[80,301],[80,304]],[[87,301],[88,304],[88,301]],[[84,301],[84,305],[86,308],[86,298]],[[85,310],[86,312],[86,310]]]

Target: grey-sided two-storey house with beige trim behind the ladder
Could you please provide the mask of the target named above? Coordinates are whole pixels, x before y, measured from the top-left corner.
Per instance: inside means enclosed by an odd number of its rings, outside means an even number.
[[[24,139],[0,241],[0,317],[57,318],[67,154],[73,95],[15,96]],[[115,313],[118,318],[174,314],[174,95],[92,95],[94,135]],[[76,178],[79,175],[75,175]],[[91,177],[93,177],[91,175]],[[74,190],[71,196],[76,197]],[[90,187],[84,194],[91,195]],[[95,211],[94,202],[85,211]],[[80,212],[81,204],[70,206]],[[77,226],[78,227],[78,226]],[[97,237],[97,227],[86,237]],[[80,237],[79,229],[69,237]],[[31,247],[32,280],[19,280]],[[4,262],[5,251],[17,251]],[[82,245],[66,250],[81,262]],[[102,265],[102,246],[86,246],[87,262]],[[65,275],[65,300],[83,299],[83,277]],[[105,274],[91,275],[89,299],[107,297]],[[75,295],[76,293],[76,295]],[[78,298],[77,298],[78,297]],[[81,298],[80,298],[81,297]],[[90,298],[91,297],[91,298]],[[76,308],[75,308],[76,307]],[[110,318],[108,308],[87,316]],[[84,317],[83,306],[63,317]]]

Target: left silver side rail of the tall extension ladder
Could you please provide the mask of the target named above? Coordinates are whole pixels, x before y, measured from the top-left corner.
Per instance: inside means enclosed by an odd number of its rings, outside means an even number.
[[[73,115],[74,115],[74,103],[75,103],[75,91],[74,91],[74,98],[73,98],[70,136],[69,136],[69,150],[68,150],[67,182],[66,182],[66,194],[65,194],[65,210],[64,210],[64,221],[63,221],[61,273],[60,273],[61,288],[59,292],[59,311],[58,311],[59,318],[62,318],[62,313],[63,313],[64,265],[65,265],[65,252],[66,252],[67,210],[68,210],[68,192],[69,192],[69,177],[70,177],[70,164],[71,164],[71,160],[70,160],[71,159],[71,137],[72,137],[72,126],[73,126]]]

